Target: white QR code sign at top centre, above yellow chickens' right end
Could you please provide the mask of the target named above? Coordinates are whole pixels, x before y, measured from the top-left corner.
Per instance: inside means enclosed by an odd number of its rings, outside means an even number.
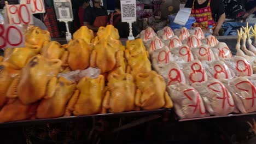
[[[136,0],[121,0],[122,22],[136,21]]]

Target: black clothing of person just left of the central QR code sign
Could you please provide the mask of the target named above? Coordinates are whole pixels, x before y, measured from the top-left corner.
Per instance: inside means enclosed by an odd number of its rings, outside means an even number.
[[[127,22],[121,21],[121,14],[117,14],[117,11],[114,11],[113,14],[113,26],[118,29],[120,38],[127,38],[129,36],[129,24]],[[110,18],[112,14],[108,15],[108,23],[110,23]]]

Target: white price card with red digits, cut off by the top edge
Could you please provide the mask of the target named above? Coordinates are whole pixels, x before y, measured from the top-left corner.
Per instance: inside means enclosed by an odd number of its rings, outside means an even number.
[[[21,0],[20,4],[29,4],[32,14],[45,13],[44,0]]]

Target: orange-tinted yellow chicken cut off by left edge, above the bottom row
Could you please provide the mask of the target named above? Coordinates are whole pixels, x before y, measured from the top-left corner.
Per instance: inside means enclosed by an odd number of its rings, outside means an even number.
[[[20,75],[20,70],[15,70],[9,63],[0,63],[0,109],[7,101],[8,89],[18,75]]]

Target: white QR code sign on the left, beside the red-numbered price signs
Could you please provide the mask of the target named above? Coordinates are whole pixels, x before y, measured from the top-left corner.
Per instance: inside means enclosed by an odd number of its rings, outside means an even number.
[[[54,0],[57,20],[73,20],[71,0]]]

